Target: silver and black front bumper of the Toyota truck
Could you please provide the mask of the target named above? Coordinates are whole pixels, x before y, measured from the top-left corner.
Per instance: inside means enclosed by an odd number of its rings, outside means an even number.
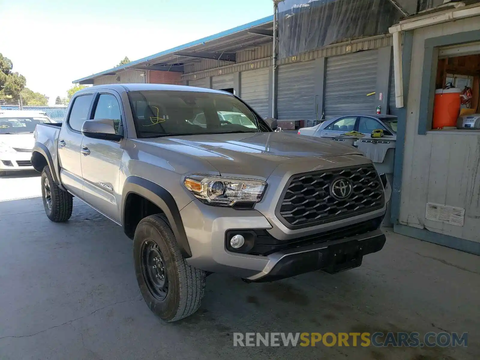
[[[380,251],[385,243],[379,227],[391,187],[386,177],[381,176],[381,180],[385,192],[382,209],[295,230],[257,206],[237,210],[194,200],[180,210],[192,251],[186,261],[205,271],[227,272],[259,282],[320,269],[335,273],[360,266],[364,255]],[[229,249],[228,237],[242,231],[260,235],[261,239],[256,239],[259,246],[245,253]]]

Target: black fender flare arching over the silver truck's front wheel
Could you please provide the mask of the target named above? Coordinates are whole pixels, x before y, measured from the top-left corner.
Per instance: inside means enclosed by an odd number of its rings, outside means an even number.
[[[139,176],[130,175],[125,180],[121,200],[121,222],[126,232],[125,202],[129,194],[135,193],[156,204],[165,214],[184,258],[192,257],[180,210],[173,196],[160,185]]]

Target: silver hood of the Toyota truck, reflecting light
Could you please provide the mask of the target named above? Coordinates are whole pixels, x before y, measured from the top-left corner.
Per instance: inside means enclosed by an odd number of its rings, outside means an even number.
[[[353,146],[282,132],[187,135],[143,141],[203,159],[224,176],[261,179],[268,178],[279,165],[308,163],[314,168],[328,157],[362,155]]]

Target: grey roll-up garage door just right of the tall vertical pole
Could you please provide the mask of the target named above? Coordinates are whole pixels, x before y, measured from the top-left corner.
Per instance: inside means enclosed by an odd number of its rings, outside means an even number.
[[[315,120],[315,61],[278,67],[277,118]]]

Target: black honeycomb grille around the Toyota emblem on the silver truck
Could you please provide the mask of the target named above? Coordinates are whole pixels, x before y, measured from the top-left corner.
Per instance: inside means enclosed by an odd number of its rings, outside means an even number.
[[[366,164],[294,175],[276,214],[288,228],[306,228],[381,209],[384,202],[380,177]]]

